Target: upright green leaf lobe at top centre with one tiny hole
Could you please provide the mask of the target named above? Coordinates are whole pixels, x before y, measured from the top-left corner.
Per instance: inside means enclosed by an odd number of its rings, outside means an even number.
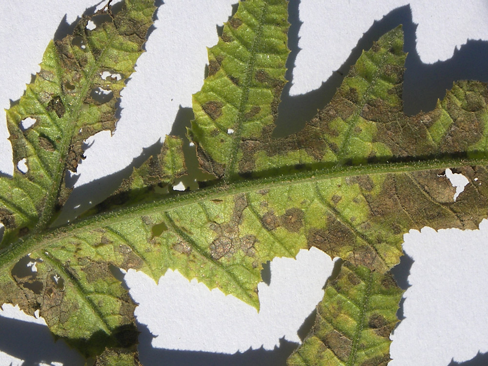
[[[258,140],[274,128],[286,82],[287,3],[239,2],[208,50],[208,77],[193,96],[189,134],[203,169],[218,178],[238,172],[242,141]]]

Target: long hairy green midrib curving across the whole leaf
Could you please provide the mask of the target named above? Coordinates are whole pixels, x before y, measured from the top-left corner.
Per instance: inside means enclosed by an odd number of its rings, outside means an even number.
[[[331,178],[351,177],[360,175],[377,175],[390,173],[408,173],[432,169],[445,169],[466,165],[488,165],[488,158],[481,159],[443,159],[433,161],[409,163],[381,163],[367,166],[344,166],[334,168],[285,174],[277,177],[259,178],[249,181],[225,183],[221,181],[208,188],[197,191],[175,193],[149,203],[139,203],[128,207],[97,214],[72,224],[66,224],[55,229],[32,234],[25,240],[11,244],[0,252],[0,268],[17,262],[26,253],[38,250],[60,238],[76,235],[77,233],[99,228],[111,224],[130,220],[134,217],[153,213],[155,210],[165,212],[175,207],[220,199],[240,193],[249,193],[261,189],[269,189],[307,182],[320,182]]]

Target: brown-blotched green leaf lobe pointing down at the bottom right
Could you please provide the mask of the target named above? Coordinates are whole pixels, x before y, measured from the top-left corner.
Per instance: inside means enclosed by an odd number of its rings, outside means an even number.
[[[344,264],[325,287],[315,325],[288,366],[386,366],[403,291],[389,273]]]

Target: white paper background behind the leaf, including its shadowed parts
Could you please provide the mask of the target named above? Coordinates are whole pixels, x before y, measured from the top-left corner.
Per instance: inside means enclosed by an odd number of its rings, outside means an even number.
[[[130,172],[128,165],[142,162],[133,159],[141,156],[143,148],[161,141],[175,119],[189,118],[184,108],[191,107],[191,94],[202,85],[205,46],[216,43],[216,26],[231,14],[234,2],[166,0],[160,6],[147,52],[122,93],[122,118],[114,136],[102,132],[87,142],[90,148],[79,167],[70,208],[79,206],[81,211],[109,194]],[[37,64],[53,35],[62,35],[65,22],[71,24],[93,5],[92,0],[0,3],[2,108],[9,108],[9,100],[20,98],[24,84],[39,70]],[[280,110],[289,118],[280,118],[278,134],[299,129],[314,110],[324,106],[340,81],[340,73],[334,71],[343,73],[343,63],[357,58],[358,40],[359,48],[369,47],[372,40],[399,23],[404,23],[409,52],[404,96],[408,113],[432,108],[453,80],[488,80],[486,43],[470,41],[455,51],[468,39],[488,40],[486,1],[463,1],[461,5],[458,1],[307,0],[299,4],[292,0],[290,8],[295,68],[287,75],[292,83],[284,94],[289,108]],[[180,106],[183,109],[177,116]],[[0,119],[0,171],[11,174],[11,150],[2,121],[4,117]],[[149,148],[146,154],[154,151]],[[435,233],[424,229],[405,236],[404,249],[414,262],[406,259],[397,270],[401,284],[406,286],[408,281],[411,287],[405,294],[405,320],[392,336],[390,365],[447,366],[452,359],[462,362],[488,351],[488,225],[482,226],[482,231]],[[332,267],[330,258],[317,251],[301,252],[298,261],[273,261],[270,286],[260,284],[259,316],[220,291],[209,291],[196,281],[189,283],[177,273],[168,273],[156,285],[143,274],[129,271],[127,285],[134,300],[141,303],[136,315],[147,325],[141,326],[141,361],[145,365],[284,365],[286,352],[293,348],[290,342],[299,340],[296,332],[322,297],[321,288]],[[5,305],[0,315],[0,351],[7,352],[0,354],[0,366],[21,365],[21,360],[24,365],[41,361],[83,364],[61,342],[54,344],[45,327],[13,321],[11,318],[25,316],[12,306]],[[148,329],[158,336],[152,340],[154,348]],[[274,353],[266,351],[275,344],[280,348]],[[234,353],[261,345],[264,348],[254,353],[236,356],[162,350]]]

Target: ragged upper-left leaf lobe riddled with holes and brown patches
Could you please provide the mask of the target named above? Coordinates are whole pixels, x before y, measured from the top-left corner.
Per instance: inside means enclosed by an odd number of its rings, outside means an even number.
[[[0,178],[2,245],[52,222],[69,195],[64,176],[66,169],[76,171],[83,141],[114,130],[116,103],[142,53],[154,9],[152,0],[127,0],[116,15],[105,8],[83,17],[73,36],[49,43],[41,71],[6,112],[16,168],[12,179]],[[102,24],[88,30],[90,19]],[[22,121],[29,118],[35,123],[26,127]]]

